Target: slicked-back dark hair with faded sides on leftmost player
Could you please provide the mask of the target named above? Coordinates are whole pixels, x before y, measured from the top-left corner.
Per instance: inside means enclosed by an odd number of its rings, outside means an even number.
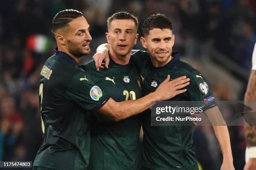
[[[51,32],[55,35],[56,31],[67,27],[73,19],[83,16],[78,10],[62,10],[55,15],[51,21]]]

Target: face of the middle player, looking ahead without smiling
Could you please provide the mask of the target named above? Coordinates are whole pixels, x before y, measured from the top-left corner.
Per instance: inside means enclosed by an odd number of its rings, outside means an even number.
[[[108,43],[111,45],[110,52],[117,56],[130,54],[138,39],[136,31],[137,27],[133,20],[111,21],[109,32],[106,33]]]

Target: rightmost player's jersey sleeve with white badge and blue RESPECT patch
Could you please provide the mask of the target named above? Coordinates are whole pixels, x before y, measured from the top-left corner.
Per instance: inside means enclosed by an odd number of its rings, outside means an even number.
[[[190,73],[187,92],[191,101],[199,101],[204,111],[217,105],[214,95],[202,74],[195,70]]]

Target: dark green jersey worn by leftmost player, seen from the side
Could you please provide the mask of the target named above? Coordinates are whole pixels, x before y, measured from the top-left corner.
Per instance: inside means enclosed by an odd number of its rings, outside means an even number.
[[[97,110],[109,97],[87,72],[57,51],[41,70],[39,101],[44,141],[33,166],[84,170],[90,157],[90,131],[85,110]]]

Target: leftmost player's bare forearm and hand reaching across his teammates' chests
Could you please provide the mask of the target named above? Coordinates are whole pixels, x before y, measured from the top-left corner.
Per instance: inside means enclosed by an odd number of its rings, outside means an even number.
[[[115,102],[111,99],[99,109],[99,112],[110,116],[115,121],[123,120],[127,117],[131,117],[151,107],[154,101],[164,101],[179,95],[186,91],[183,89],[189,85],[189,78],[182,76],[173,81],[170,81],[168,75],[166,80],[162,82],[155,92],[152,92],[137,100],[128,100],[123,102]],[[170,89],[167,90],[166,89]]]

